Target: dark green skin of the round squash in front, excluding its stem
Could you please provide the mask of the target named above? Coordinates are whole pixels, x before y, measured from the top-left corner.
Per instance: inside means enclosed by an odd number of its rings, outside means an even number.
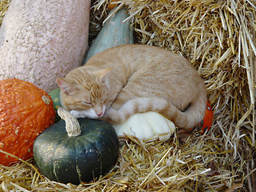
[[[110,124],[79,118],[82,134],[69,137],[63,120],[44,130],[34,141],[34,159],[50,180],[90,182],[106,174],[118,159],[118,135]]]

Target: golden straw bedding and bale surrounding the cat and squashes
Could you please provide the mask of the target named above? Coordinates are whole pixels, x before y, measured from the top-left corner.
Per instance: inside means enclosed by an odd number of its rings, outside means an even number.
[[[0,22],[10,1],[1,1]],[[108,12],[93,1],[90,41]],[[188,58],[205,79],[214,125],[186,142],[129,138],[110,174],[79,186],[51,182],[34,159],[0,166],[0,191],[256,191],[256,2],[122,0],[135,43]]]

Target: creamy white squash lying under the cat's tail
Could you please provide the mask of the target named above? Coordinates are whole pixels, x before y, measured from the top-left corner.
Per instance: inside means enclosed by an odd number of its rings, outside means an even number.
[[[166,141],[174,134],[176,126],[169,119],[155,112],[134,114],[126,122],[114,124],[118,136],[135,136],[144,141],[159,138]]]

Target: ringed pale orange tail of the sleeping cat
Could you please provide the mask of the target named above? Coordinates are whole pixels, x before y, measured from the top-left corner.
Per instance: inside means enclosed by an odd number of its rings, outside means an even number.
[[[183,112],[162,98],[134,98],[126,102],[120,110],[108,110],[107,116],[113,122],[124,122],[133,114],[147,111],[162,114],[179,128],[190,129],[202,122],[206,112],[206,97],[202,95],[197,98]]]

